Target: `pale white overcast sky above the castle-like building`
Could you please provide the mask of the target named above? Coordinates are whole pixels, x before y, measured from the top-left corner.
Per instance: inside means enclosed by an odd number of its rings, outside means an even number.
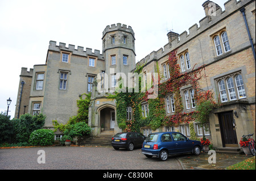
[[[14,118],[22,67],[45,64],[49,41],[100,50],[102,31],[111,24],[131,26],[136,61],[168,43],[167,33],[188,32],[205,17],[206,0],[0,0],[0,112]],[[225,10],[225,0],[213,0]]]

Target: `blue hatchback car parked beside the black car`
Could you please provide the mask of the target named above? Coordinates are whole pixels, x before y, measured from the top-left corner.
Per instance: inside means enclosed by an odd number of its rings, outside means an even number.
[[[189,140],[179,132],[160,132],[149,134],[141,150],[147,158],[156,156],[161,161],[166,161],[168,155],[179,153],[199,155],[202,149],[203,145],[200,141]]]

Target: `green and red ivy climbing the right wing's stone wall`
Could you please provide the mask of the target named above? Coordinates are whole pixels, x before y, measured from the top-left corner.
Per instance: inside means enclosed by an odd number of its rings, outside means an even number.
[[[180,66],[177,64],[176,50],[169,54],[168,62],[170,70],[170,78],[160,83],[161,76],[158,71],[158,96],[156,99],[147,99],[147,96],[152,92],[150,89],[146,92],[141,92],[141,77],[139,77],[139,92],[115,92],[114,95],[109,95],[108,98],[115,99],[117,102],[117,123],[123,131],[140,131],[141,127],[151,127],[152,130],[160,126],[179,125],[179,123],[191,123],[197,121],[200,125],[204,125],[209,121],[209,113],[218,106],[213,99],[212,91],[205,91],[200,88],[199,80],[205,77],[202,73],[204,66],[193,69],[189,73],[181,73]],[[136,73],[141,73],[144,65],[137,65]],[[152,78],[153,79],[153,78]],[[194,99],[196,101],[196,110],[184,112],[183,100],[181,98],[181,87],[191,86],[194,90]],[[120,87],[121,88],[121,87]],[[174,95],[175,113],[171,116],[166,116],[164,100],[167,95]],[[148,116],[142,116],[141,103],[148,103]],[[126,108],[132,107],[133,119],[126,120]]]

